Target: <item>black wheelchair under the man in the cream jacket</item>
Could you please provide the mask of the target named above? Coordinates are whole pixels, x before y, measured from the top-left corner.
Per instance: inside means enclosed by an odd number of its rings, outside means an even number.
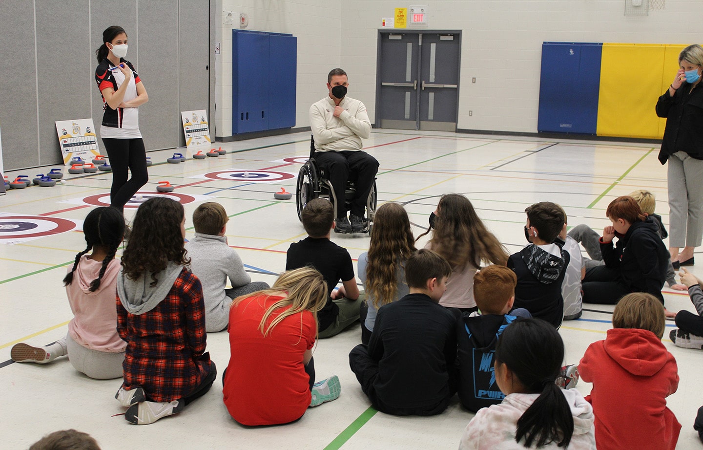
[[[340,203],[337,201],[335,190],[332,187],[332,183],[325,173],[325,169],[320,167],[316,162],[315,158],[315,138],[311,136],[310,138],[310,158],[305,162],[303,167],[300,167],[298,172],[297,186],[295,188],[295,204],[298,210],[298,219],[302,220],[302,212],[305,205],[310,200],[315,198],[325,198],[332,203],[335,208],[335,217],[339,217],[337,214],[337,208]],[[373,215],[376,212],[376,205],[378,203],[378,198],[376,197],[378,191],[376,191],[376,181],[374,179],[373,186],[371,187],[370,193],[368,193],[368,198],[366,199],[366,220],[363,224],[363,229],[361,231],[356,231],[356,233],[369,233],[373,228]],[[354,195],[356,195],[356,180],[354,175],[349,177],[347,181],[347,186],[344,189],[344,210],[348,211]],[[340,233],[335,227],[335,233]],[[354,231],[348,231],[348,233],[354,233]]]

